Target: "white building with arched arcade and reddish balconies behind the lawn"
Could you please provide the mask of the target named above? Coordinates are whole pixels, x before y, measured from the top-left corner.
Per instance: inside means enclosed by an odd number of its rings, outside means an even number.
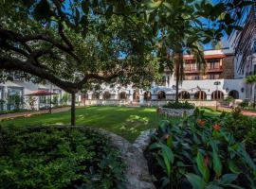
[[[244,77],[237,77],[235,56],[230,49],[206,50],[205,70],[198,69],[192,55],[184,56],[184,80],[179,84],[179,98],[191,100],[202,106],[214,106],[217,101],[232,96],[235,99],[246,99],[246,83]],[[256,69],[255,69],[256,70]],[[218,84],[218,85],[216,85]],[[161,84],[153,83],[148,90],[137,89],[132,85],[123,87],[102,86],[101,92],[78,94],[77,102],[80,105],[163,105],[174,100],[175,79],[171,72],[166,70]],[[48,91],[57,94],[57,104],[61,104],[66,93],[60,88],[49,84],[34,84],[13,76],[13,81],[0,83],[0,99],[5,101],[1,109],[14,109],[15,100],[11,96],[19,95],[24,100],[23,108],[29,109],[29,96],[34,91]],[[36,97],[35,109],[49,106],[48,96]]]

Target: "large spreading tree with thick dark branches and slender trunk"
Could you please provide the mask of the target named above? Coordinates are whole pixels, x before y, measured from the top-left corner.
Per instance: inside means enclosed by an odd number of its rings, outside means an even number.
[[[131,1],[0,3],[0,69],[50,81],[72,94],[103,82],[149,84],[157,71],[151,28]],[[139,31],[139,32],[138,32]]]

